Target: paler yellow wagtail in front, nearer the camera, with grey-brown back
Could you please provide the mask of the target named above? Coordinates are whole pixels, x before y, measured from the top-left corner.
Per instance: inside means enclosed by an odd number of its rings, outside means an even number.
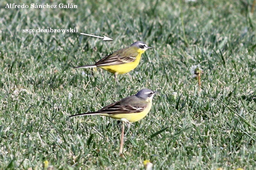
[[[155,93],[149,89],[142,89],[137,94],[103,107],[99,111],[71,115],[69,117],[101,115],[118,119],[122,122],[137,122],[148,114]]]

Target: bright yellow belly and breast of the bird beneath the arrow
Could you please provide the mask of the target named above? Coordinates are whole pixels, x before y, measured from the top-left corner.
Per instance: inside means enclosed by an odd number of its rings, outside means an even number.
[[[99,67],[111,73],[118,73],[118,74],[128,73],[129,71],[135,69],[138,66],[140,62],[140,56],[141,54],[139,54],[136,57],[136,60],[131,63],[117,64],[117,65],[110,65],[110,66],[99,66]]]

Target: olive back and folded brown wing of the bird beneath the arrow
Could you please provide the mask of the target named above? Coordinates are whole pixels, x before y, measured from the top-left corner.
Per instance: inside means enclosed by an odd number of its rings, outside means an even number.
[[[129,50],[129,51],[128,51]],[[95,63],[96,66],[110,66],[116,64],[131,63],[136,60],[136,56],[139,54],[137,51],[132,50],[131,48],[118,50],[113,54],[110,54],[98,62]]]

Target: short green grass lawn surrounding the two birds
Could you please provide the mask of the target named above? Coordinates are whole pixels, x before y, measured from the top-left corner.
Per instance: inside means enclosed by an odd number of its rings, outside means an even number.
[[[252,0],[74,1],[78,9],[5,9],[6,3],[0,3],[1,169],[40,169],[45,160],[56,169],[143,169],[146,159],[154,169],[256,167]],[[31,2],[15,4],[23,3]],[[76,27],[114,40],[22,33],[38,27]],[[107,71],[72,69],[138,40],[155,48],[130,72],[133,81],[119,75],[118,85]],[[199,63],[201,91],[190,74]],[[131,127],[126,159],[118,156],[115,120],[68,118],[142,88],[160,93]]]

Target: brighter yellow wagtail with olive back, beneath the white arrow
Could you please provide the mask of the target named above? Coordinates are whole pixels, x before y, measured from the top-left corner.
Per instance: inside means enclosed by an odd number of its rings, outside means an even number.
[[[140,62],[141,54],[144,53],[148,48],[152,47],[148,47],[147,44],[137,41],[129,47],[119,49],[118,51],[115,51],[114,53],[102,58],[93,65],[84,65],[74,68],[99,67],[114,73],[115,77],[117,77],[118,74],[128,73],[129,71],[135,69]]]

